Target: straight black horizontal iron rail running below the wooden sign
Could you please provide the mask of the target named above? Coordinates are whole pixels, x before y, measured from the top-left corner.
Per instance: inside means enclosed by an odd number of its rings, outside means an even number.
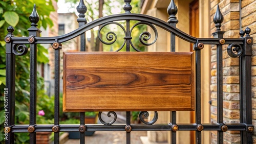
[[[52,127],[54,125],[36,125],[34,132],[52,132]],[[80,125],[59,125],[60,132],[68,131],[79,131]],[[87,131],[125,131],[124,127],[126,125],[113,124],[111,126],[105,125],[86,125]],[[183,124],[177,125],[179,131],[197,131],[196,124]],[[202,124],[203,131],[222,131],[221,126],[223,124]],[[227,124],[225,125],[228,131],[245,131],[248,126],[246,124]],[[12,127],[11,132],[28,132],[29,125],[15,125]],[[157,125],[131,125],[132,131],[172,131],[172,125],[169,124],[157,124]]]

